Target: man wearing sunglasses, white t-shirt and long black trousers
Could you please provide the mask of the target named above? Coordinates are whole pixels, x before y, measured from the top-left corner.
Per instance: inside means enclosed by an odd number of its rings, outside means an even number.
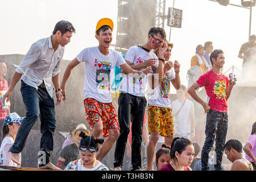
[[[131,68],[142,70],[148,67],[155,73],[151,75],[152,85],[158,83],[163,78],[164,52],[167,49],[166,32],[163,28],[153,27],[148,31],[147,42],[138,46],[132,46],[126,53],[126,63]],[[159,57],[152,52],[152,49],[159,48]],[[121,71],[122,72],[122,71]],[[121,170],[123,166],[123,155],[127,136],[130,131],[130,122],[132,122],[132,144],[131,144],[131,164],[132,170],[141,170],[141,143],[142,143],[142,125],[144,119],[145,107],[147,104],[145,98],[145,89],[147,78],[145,75],[131,77],[126,74],[123,76],[118,90],[118,122],[120,134],[115,146],[114,168]]]

